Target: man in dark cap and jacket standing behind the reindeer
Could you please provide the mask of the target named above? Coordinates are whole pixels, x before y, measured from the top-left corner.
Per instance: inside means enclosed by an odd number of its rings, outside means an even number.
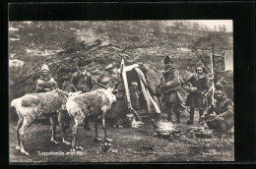
[[[70,84],[77,90],[81,90],[82,93],[91,91],[94,88],[93,78],[90,73],[87,72],[85,64],[82,61],[78,62],[77,72],[72,75]],[[85,130],[91,130],[89,125],[89,117],[85,118]]]

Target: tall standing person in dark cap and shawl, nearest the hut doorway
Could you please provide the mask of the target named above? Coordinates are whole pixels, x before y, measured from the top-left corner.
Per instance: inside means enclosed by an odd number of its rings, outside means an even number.
[[[180,111],[177,110],[178,105],[182,102],[178,90],[183,83],[179,77],[178,71],[174,68],[173,61],[169,56],[164,58],[165,69],[162,72],[162,91],[163,91],[163,112],[167,114],[167,120],[171,121],[171,114],[174,111],[176,115],[176,123],[180,123]]]

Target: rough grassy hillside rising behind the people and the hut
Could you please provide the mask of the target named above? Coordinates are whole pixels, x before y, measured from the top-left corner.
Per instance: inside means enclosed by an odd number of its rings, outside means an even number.
[[[150,61],[162,70],[164,56],[170,55],[186,79],[199,60],[208,67],[213,42],[216,53],[232,49],[232,33],[164,21],[11,22],[9,59],[25,64],[9,69],[10,100],[35,91],[43,64],[60,87],[76,71],[78,60],[87,63],[99,83],[112,85],[121,59],[127,65]]]

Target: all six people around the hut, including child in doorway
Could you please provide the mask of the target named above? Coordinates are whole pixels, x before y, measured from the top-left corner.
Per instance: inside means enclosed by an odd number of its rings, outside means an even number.
[[[215,102],[210,101],[207,94],[211,90],[213,79],[207,74],[202,62],[196,64],[195,74],[186,82],[180,77],[177,69],[173,66],[173,61],[169,56],[164,58],[165,68],[161,78],[161,93],[163,102],[163,113],[167,114],[167,120],[174,123],[180,123],[179,105],[183,102],[179,94],[181,87],[189,94],[186,99],[186,106],[190,107],[190,117],[187,125],[194,124],[194,112],[199,111],[199,122],[206,122],[210,129],[227,134],[233,127],[233,102],[227,99],[222,84],[216,84],[214,93]],[[83,62],[78,62],[77,72],[72,75],[69,86],[71,91],[81,90],[83,93],[91,91],[94,88],[93,78],[85,69]],[[41,75],[36,83],[37,92],[47,92],[57,87],[57,83],[49,74],[47,65],[41,67]],[[64,86],[65,87],[65,86]],[[66,90],[66,88],[62,88]],[[131,102],[135,109],[139,109],[138,84],[131,84]],[[173,113],[176,120],[172,119]],[[69,124],[68,124],[69,125]],[[89,119],[85,119],[85,130],[90,130]]]

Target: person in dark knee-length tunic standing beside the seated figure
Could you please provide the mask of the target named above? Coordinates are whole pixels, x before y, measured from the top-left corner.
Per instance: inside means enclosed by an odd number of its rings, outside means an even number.
[[[196,73],[192,76],[185,85],[185,90],[189,92],[186,100],[186,106],[190,106],[190,119],[187,122],[188,125],[194,123],[194,111],[195,108],[199,109],[200,117],[203,115],[207,108],[207,98],[205,94],[210,88],[210,81],[205,74],[205,68],[200,61],[196,64]]]

